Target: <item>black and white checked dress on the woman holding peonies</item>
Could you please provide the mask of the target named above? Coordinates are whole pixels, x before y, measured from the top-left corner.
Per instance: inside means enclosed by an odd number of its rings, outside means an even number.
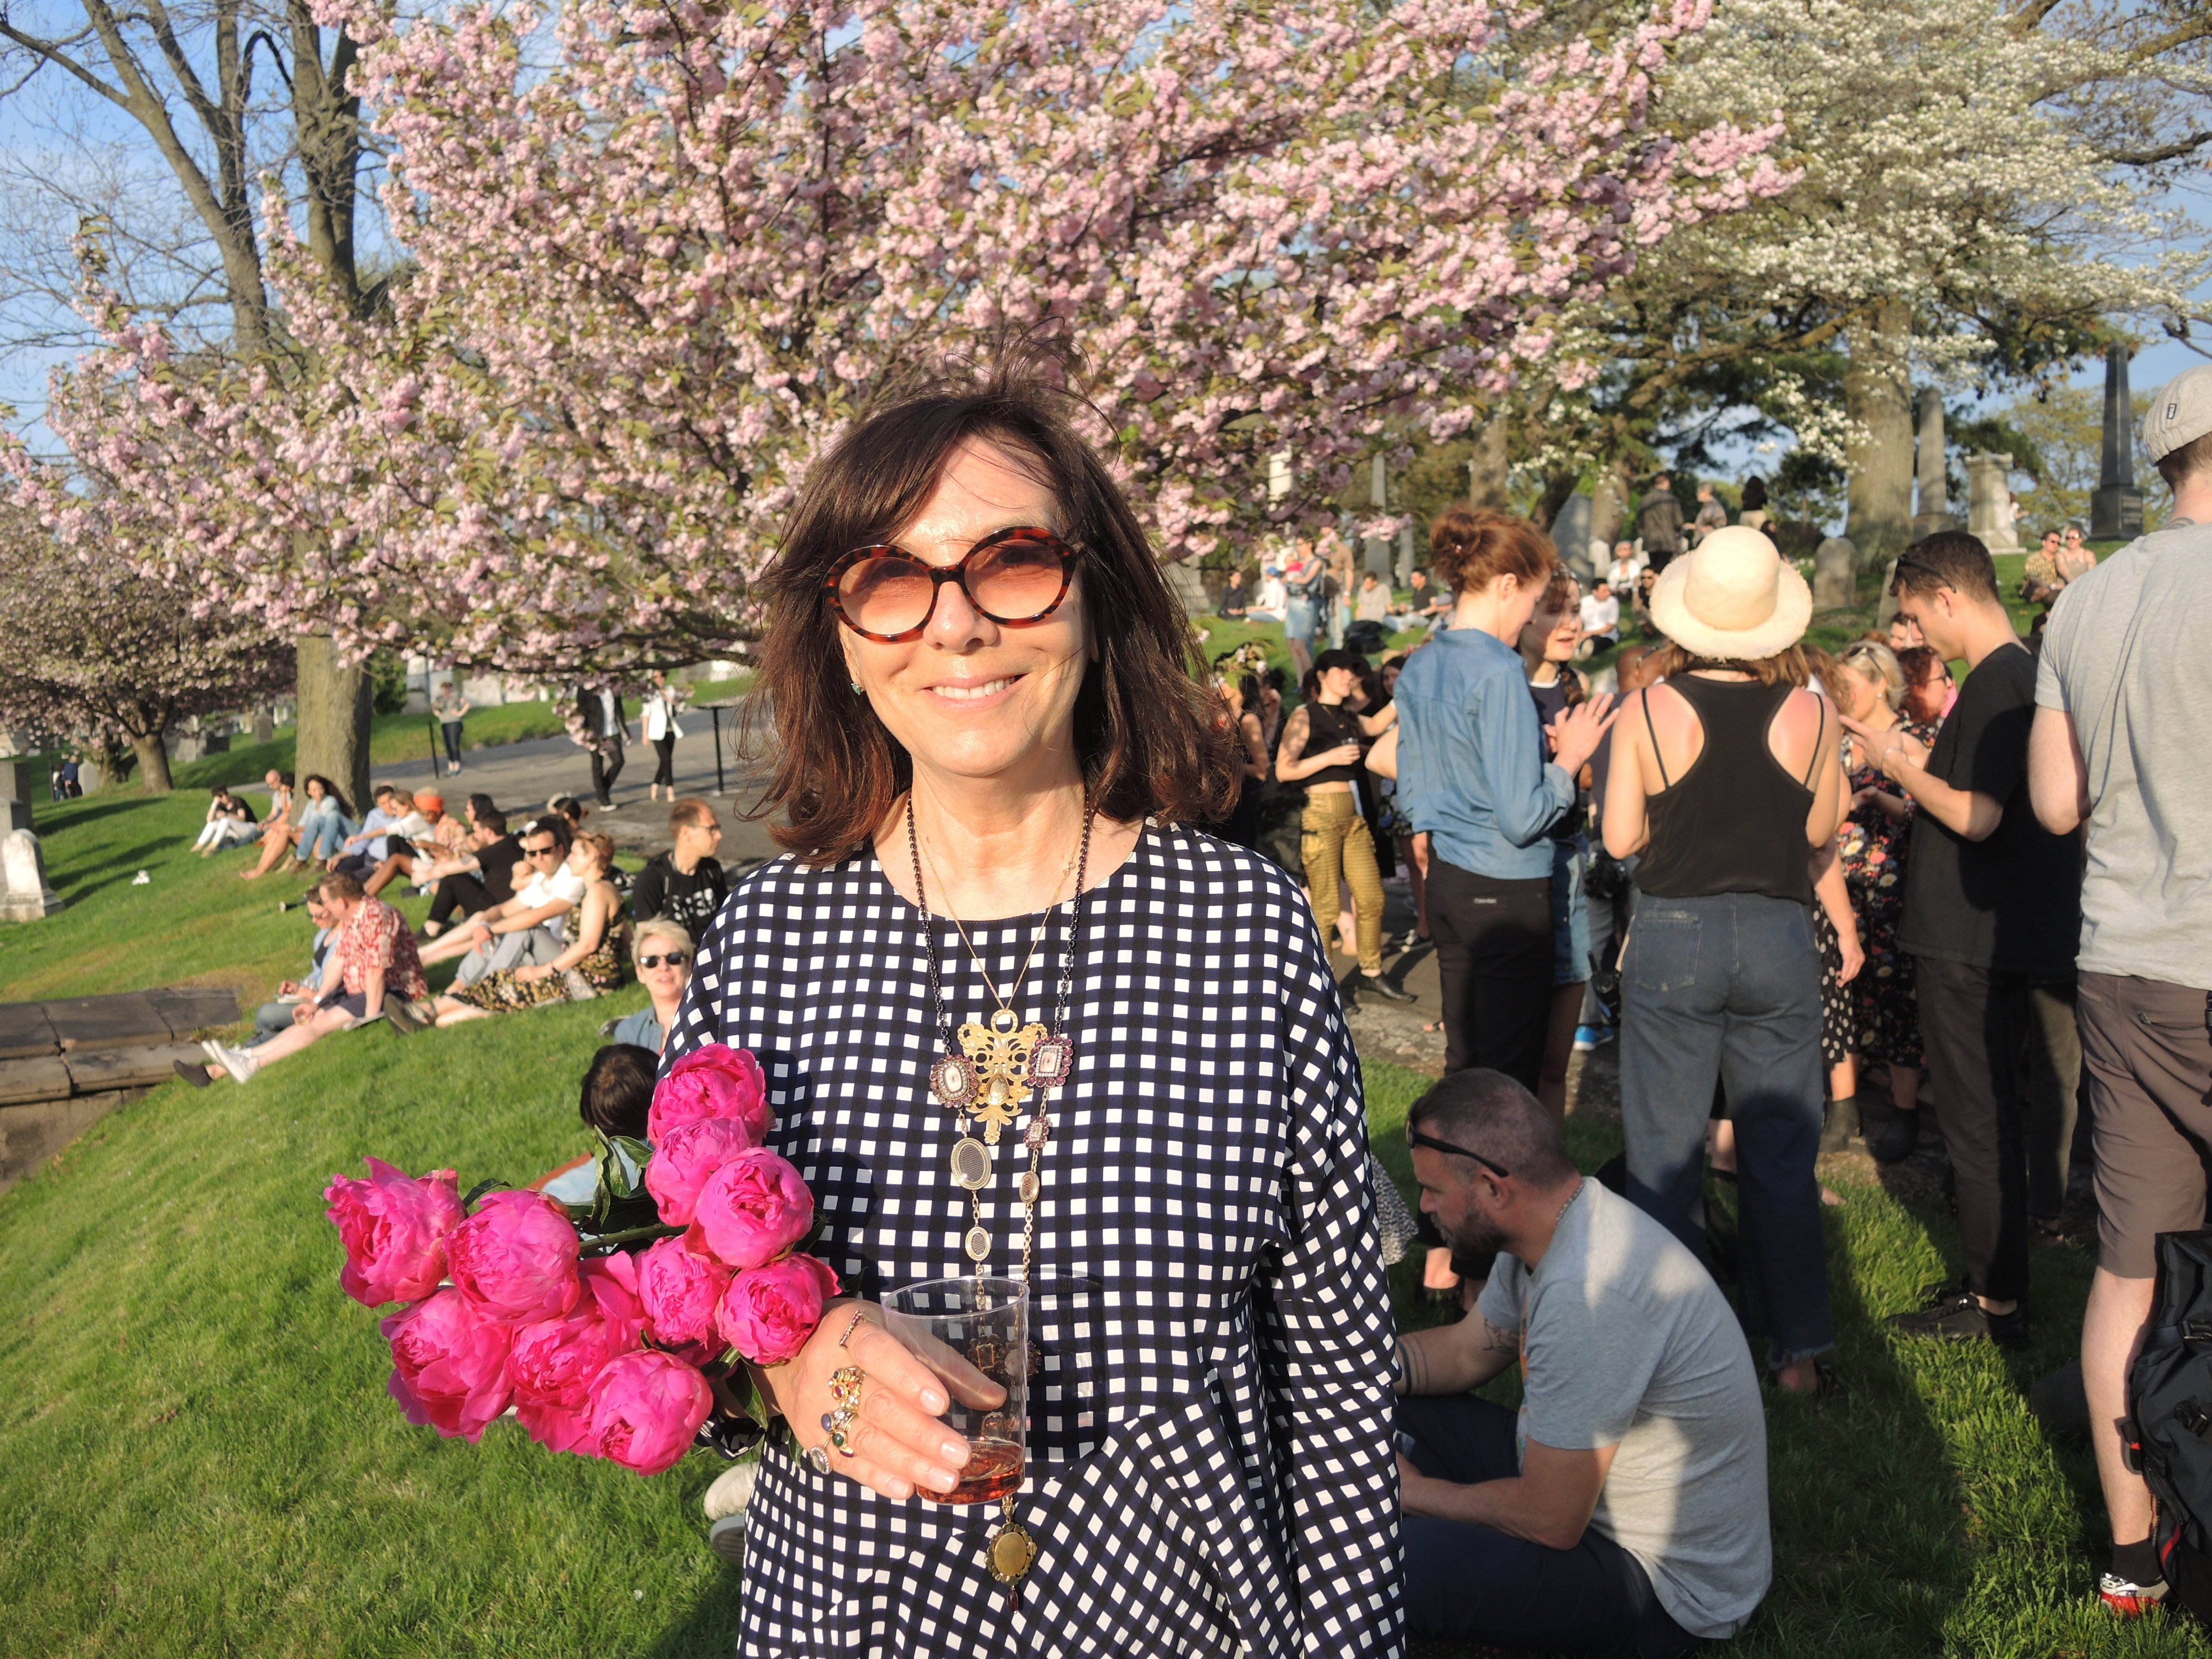
[[[1000,989],[1035,916],[969,927]],[[991,1006],[938,918],[951,1022]],[[1060,933],[1064,938],[1064,931]],[[1051,1020],[1053,949],[1022,987]],[[752,1498],[743,1655],[1396,1655],[1391,1321],[1360,1082],[1303,894],[1265,858],[1148,827],[1084,900],[1073,1077],[1048,1099],[1031,1272],[1040,1544],[1020,1606],[995,1504],[894,1504],[772,1449]],[[814,1188],[816,1250],[876,1298],[973,1272],[922,916],[874,856],[781,858],[699,951],[668,1060],[750,1048],[770,1146]],[[1020,1263],[1020,1128],[982,1223]]]

